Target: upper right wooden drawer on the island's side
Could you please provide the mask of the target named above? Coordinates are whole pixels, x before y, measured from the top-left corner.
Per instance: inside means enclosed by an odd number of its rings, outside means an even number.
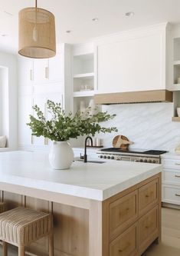
[[[139,188],[139,215],[158,202],[158,178]]]

